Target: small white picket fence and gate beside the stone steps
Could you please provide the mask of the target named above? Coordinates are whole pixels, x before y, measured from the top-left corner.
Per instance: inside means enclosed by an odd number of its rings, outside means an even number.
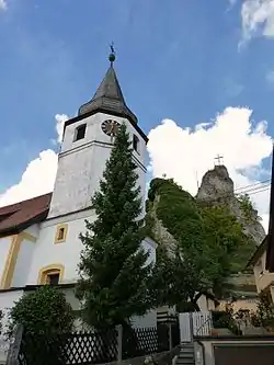
[[[209,335],[213,328],[210,311],[179,315],[181,342],[191,342],[193,335]]]

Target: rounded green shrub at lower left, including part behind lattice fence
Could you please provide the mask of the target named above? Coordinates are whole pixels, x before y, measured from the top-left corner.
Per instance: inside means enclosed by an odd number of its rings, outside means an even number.
[[[25,294],[10,309],[9,317],[8,335],[16,324],[23,326],[21,353],[27,364],[64,364],[65,334],[72,330],[75,320],[64,292],[46,285]]]

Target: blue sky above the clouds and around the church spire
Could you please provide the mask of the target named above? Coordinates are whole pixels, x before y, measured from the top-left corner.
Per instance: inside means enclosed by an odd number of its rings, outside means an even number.
[[[253,111],[252,121],[266,119],[267,135],[274,135],[270,20],[244,24],[244,1],[4,2],[0,193],[19,183],[42,150],[57,149],[55,115],[76,115],[93,95],[109,66],[111,41],[124,95],[146,133],[163,118],[194,127],[228,106],[242,106]],[[258,0],[246,1],[251,2]]]

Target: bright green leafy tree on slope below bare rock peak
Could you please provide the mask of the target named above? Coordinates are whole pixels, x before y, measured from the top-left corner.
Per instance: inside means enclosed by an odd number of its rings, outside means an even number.
[[[201,232],[202,244],[182,249],[191,262],[190,280],[195,275],[196,303],[201,293],[210,290],[217,298],[233,294],[233,285],[228,278],[242,270],[244,261],[239,254],[249,250],[252,252],[249,238],[243,233],[241,225],[226,206],[203,207],[199,210],[203,219]],[[203,253],[202,253],[203,252]]]

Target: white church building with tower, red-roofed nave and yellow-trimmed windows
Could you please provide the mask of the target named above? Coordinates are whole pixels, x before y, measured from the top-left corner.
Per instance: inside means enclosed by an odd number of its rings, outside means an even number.
[[[125,123],[138,167],[145,214],[146,144],[148,138],[124,100],[110,56],[110,68],[94,96],[65,123],[53,193],[0,208],[0,309],[13,306],[38,285],[58,284],[73,309],[78,263],[85,231],[84,220],[95,219],[91,196],[113,147],[119,124]],[[156,260],[157,244],[147,238],[142,246]],[[129,284],[130,285],[130,284]],[[156,312],[134,320],[136,326],[156,324]]]

